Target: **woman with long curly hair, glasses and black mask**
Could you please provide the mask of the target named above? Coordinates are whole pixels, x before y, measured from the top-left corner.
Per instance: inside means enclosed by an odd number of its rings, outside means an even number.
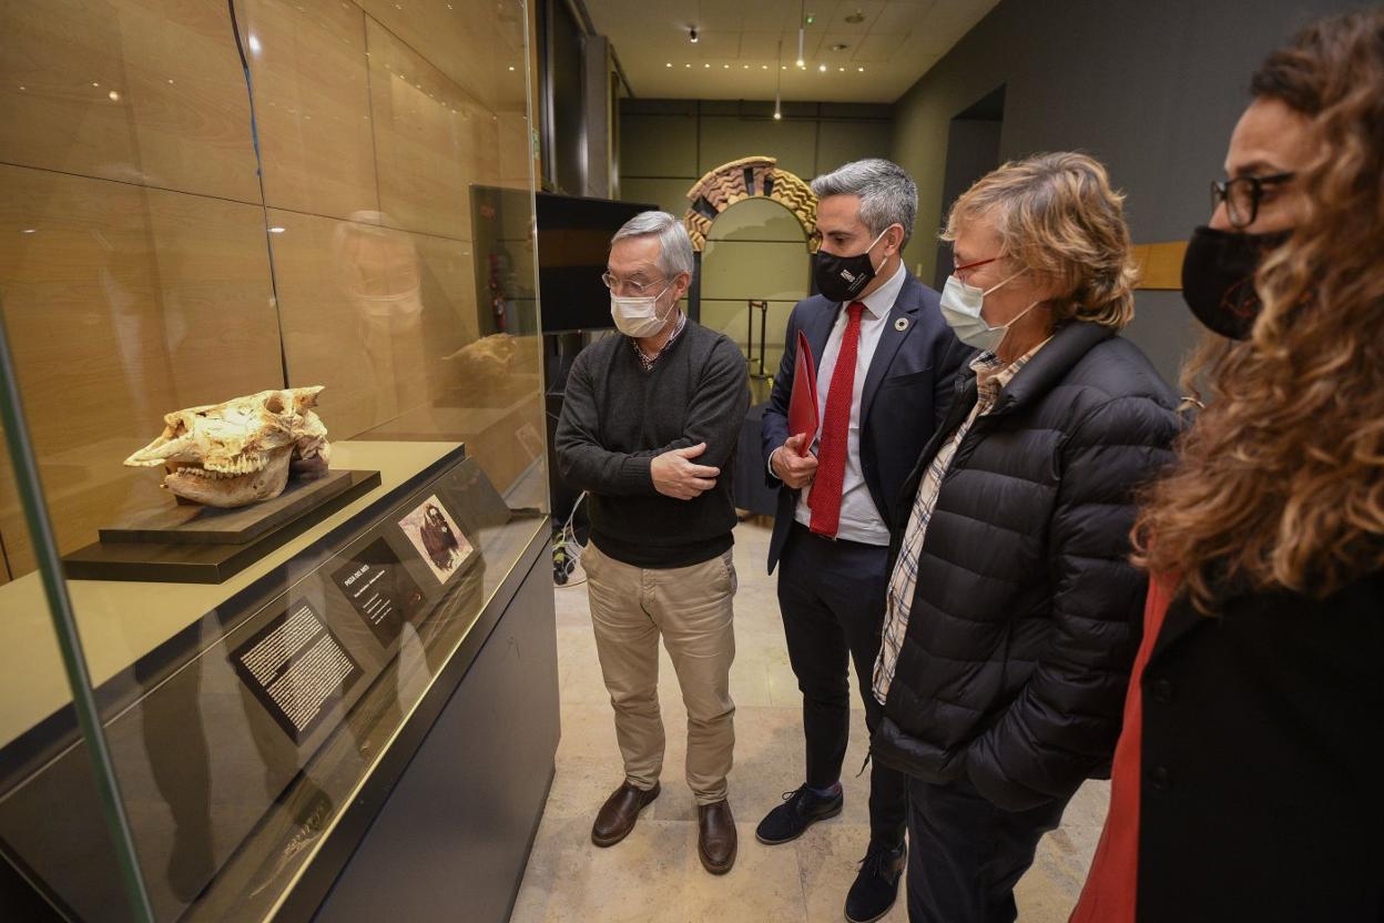
[[[1183,293],[1208,404],[1074,922],[1384,919],[1384,10],[1264,62]]]

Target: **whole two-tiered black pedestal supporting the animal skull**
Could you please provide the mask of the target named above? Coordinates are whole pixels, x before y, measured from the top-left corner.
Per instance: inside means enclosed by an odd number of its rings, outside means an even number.
[[[342,470],[242,509],[162,509],[102,529],[62,569],[69,580],[219,584],[379,484],[378,470]]]

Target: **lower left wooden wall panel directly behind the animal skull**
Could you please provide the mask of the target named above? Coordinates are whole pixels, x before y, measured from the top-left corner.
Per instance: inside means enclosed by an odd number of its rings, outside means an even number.
[[[0,166],[0,296],[64,552],[170,502],[120,462],[163,414],[282,383],[259,208]],[[0,534],[32,567],[8,466]]]

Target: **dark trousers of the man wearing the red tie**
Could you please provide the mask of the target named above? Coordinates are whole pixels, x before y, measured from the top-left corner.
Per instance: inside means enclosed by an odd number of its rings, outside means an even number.
[[[825,789],[841,778],[851,728],[850,660],[861,678],[865,726],[873,733],[883,706],[871,682],[884,624],[884,573],[889,549],[832,541],[793,523],[779,562],[779,612],[787,656],[803,692],[807,783]],[[904,841],[907,780],[871,762],[871,843]]]

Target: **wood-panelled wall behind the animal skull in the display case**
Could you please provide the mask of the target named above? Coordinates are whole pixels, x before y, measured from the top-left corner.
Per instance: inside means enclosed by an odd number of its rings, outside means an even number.
[[[334,439],[494,415],[444,358],[489,310],[469,187],[530,181],[519,0],[234,14],[0,4],[0,303],[62,551],[172,502],[120,464],[172,410],[321,383]],[[537,360],[520,339],[516,368]],[[516,400],[480,458],[501,487],[533,458],[513,421],[544,432],[537,389]],[[7,461],[0,577],[33,567]]]

